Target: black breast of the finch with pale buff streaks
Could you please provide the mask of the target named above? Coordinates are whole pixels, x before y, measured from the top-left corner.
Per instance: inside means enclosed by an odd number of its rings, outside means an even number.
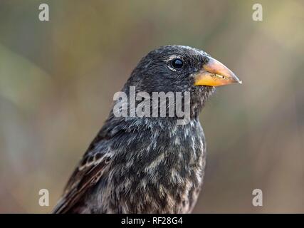
[[[120,164],[121,186],[132,212],[189,212],[204,176],[204,133],[198,120],[147,131],[134,140],[125,163]],[[117,182],[117,180],[115,181]],[[132,206],[133,205],[133,206]],[[135,207],[136,206],[136,207]]]

